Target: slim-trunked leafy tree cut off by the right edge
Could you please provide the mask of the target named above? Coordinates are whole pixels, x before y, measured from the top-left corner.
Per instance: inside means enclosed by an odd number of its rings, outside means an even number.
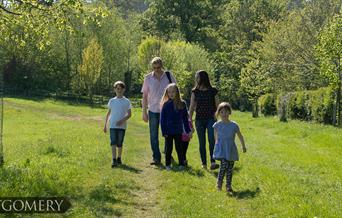
[[[316,48],[322,75],[327,77],[335,89],[333,125],[341,124],[341,83],[342,83],[342,15],[337,14],[319,35]]]

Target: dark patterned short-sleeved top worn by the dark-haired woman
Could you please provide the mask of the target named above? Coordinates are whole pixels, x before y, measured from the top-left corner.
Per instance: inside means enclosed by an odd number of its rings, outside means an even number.
[[[196,120],[198,119],[215,119],[216,104],[215,95],[217,95],[216,88],[209,88],[207,90],[192,90],[195,94],[196,106]]]

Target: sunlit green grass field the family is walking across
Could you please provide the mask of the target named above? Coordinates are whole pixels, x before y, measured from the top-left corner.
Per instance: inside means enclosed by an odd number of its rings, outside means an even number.
[[[148,125],[133,110],[123,161],[111,169],[104,108],[5,99],[0,197],[67,196],[72,217],[342,217],[342,130],[234,112],[248,151],[233,176],[235,196],[215,189],[217,171],[149,166]],[[161,144],[163,143],[163,139]],[[176,155],[174,155],[176,156]]]

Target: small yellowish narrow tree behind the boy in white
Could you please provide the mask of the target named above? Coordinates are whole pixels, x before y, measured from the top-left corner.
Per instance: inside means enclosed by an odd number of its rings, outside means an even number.
[[[89,42],[82,54],[82,64],[79,65],[79,73],[88,92],[90,102],[93,103],[94,85],[100,77],[103,64],[103,49],[96,39]]]

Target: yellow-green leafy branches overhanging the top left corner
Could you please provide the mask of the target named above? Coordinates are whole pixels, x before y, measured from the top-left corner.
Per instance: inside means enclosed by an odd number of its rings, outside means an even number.
[[[15,41],[25,46],[32,37],[39,36],[36,46],[43,50],[51,44],[49,32],[55,27],[74,32],[70,15],[83,15],[84,22],[105,17],[106,10],[96,7],[88,10],[82,0],[6,0],[0,2],[0,42]],[[37,37],[38,38],[38,37]]]

